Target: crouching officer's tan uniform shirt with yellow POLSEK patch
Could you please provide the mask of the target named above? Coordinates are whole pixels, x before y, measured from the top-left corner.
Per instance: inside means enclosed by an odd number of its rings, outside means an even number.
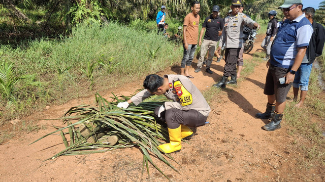
[[[208,116],[211,109],[200,90],[183,75],[164,75],[168,78],[169,90],[165,93],[167,99],[172,101],[165,102],[165,108],[176,108],[179,110],[197,110],[204,116]],[[131,101],[138,105],[146,98],[152,96],[147,89],[142,90],[131,98]]]

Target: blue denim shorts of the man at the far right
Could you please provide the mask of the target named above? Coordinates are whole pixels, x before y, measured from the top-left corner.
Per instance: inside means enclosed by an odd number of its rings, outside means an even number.
[[[302,91],[308,90],[309,76],[310,76],[312,67],[313,67],[313,64],[301,63],[299,69],[297,70],[297,72],[295,74],[295,80],[293,83],[293,86],[295,88],[300,87],[300,90],[302,90]]]

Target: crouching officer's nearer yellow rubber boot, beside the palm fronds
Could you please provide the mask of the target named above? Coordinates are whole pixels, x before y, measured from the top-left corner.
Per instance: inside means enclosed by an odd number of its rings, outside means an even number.
[[[158,150],[167,154],[172,152],[179,152],[182,148],[182,131],[181,126],[175,129],[168,128],[170,143],[159,145]]]

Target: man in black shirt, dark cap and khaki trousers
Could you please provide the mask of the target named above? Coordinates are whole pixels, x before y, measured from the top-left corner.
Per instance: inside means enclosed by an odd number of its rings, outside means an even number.
[[[223,20],[218,16],[220,11],[219,6],[215,5],[212,9],[212,15],[207,17],[202,25],[202,29],[200,32],[199,38],[199,46],[201,46],[201,54],[200,59],[198,61],[198,68],[194,71],[196,73],[201,71],[202,64],[204,61],[204,56],[209,50],[207,62],[206,62],[206,72],[212,74],[213,72],[210,70],[210,66],[212,64],[212,59],[214,52],[217,47],[217,42],[219,41],[219,35],[221,35],[221,31],[223,28]],[[205,34],[204,31],[206,30]],[[204,34],[203,42],[202,36]]]

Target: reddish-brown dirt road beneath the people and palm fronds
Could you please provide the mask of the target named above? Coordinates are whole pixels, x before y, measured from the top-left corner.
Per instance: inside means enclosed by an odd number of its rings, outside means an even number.
[[[262,37],[258,38],[252,52],[259,51]],[[244,59],[251,55],[244,54]],[[193,63],[196,65],[196,63]],[[201,90],[209,88],[222,75],[224,62],[213,62],[213,74],[194,73],[191,79]],[[204,70],[204,69],[202,69]],[[177,74],[173,67],[162,74]],[[188,143],[182,143],[182,151],[172,157],[179,173],[163,162],[154,159],[172,181],[325,181],[324,169],[302,168],[298,158],[303,156],[293,146],[294,135],[287,134],[285,121],[281,129],[267,132],[261,127],[266,120],[254,117],[264,112],[267,98],[263,87],[267,68],[258,64],[253,73],[239,82],[237,87],[228,86],[211,102],[209,124],[199,127]],[[107,93],[129,95],[141,87],[142,79],[132,85],[108,90]],[[109,94],[102,94],[108,98]],[[83,98],[60,106],[52,106],[29,119],[58,118],[70,107],[93,104],[94,98]],[[142,172],[142,154],[139,149],[120,149],[106,153],[63,156],[43,160],[64,149],[60,135],[51,135],[35,144],[31,142],[54,130],[51,125],[63,126],[60,121],[37,121],[38,132],[24,133],[20,138],[0,145],[0,181],[148,181]],[[282,124],[282,123],[281,123]],[[150,165],[150,181],[168,181]]]

